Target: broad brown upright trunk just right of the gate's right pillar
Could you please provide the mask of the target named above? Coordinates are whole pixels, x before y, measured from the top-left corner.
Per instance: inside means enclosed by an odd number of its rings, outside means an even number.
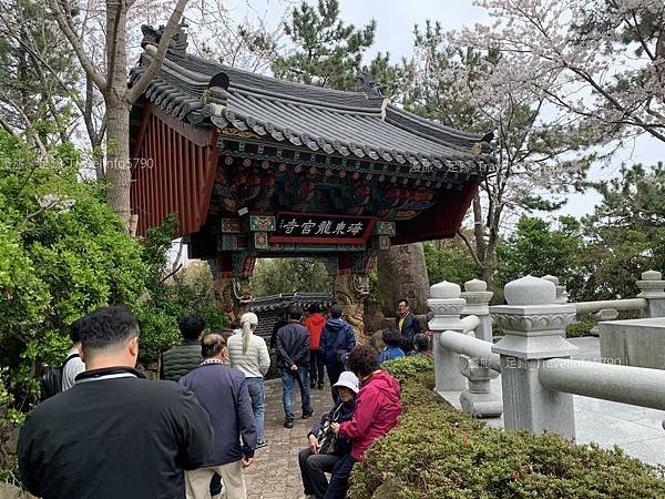
[[[379,301],[386,316],[395,316],[397,302],[401,298],[409,301],[413,314],[427,312],[429,281],[422,243],[392,246],[380,252],[377,265]]]

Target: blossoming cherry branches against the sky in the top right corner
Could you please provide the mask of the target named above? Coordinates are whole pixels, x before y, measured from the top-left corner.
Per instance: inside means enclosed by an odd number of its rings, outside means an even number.
[[[533,72],[549,103],[593,126],[598,142],[665,142],[663,0],[479,0],[493,24],[464,30]],[[555,85],[542,85],[543,81]]]

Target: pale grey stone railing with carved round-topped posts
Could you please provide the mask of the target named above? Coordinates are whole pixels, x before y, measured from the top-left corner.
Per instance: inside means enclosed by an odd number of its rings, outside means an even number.
[[[643,293],[637,299],[645,306],[637,301],[614,301],[613,305],[628,302],[640,305],[648,317],[665,316],[661,274],[651,272],[642,277],[638,286]],[[482,285],[467,283],[466,293],[487,293],[480,289]],[[434,334],[437,391],[443,396],[461,391],[462,409],[474,416],[495,416],[502,408],[507,429],[548,430],[570,438],[575,436],[572,394],[665,409],[665,370],[570,359],[577,348],[565,339],[565,326],[575,319],[577,308],[561,299],[557,291],[551,278],[513,281],[504,289],[508,305],[489,307],[484,303],[485,317],[479,305],[482,299],[467,305],[458,285],[444,282],[432,286],[428,305],[434,313],[429,325]],[[608,308],[597,306],[598,310]],[[461,318],[471,312],[475,313],[473,319]],[[489,338],[483,320],[490,325]],[[491,342],[491,320],[505,334],[497,344]],[[473,337],[478,333],[487,339]],[[498,371],[502,400],[490,390]]]

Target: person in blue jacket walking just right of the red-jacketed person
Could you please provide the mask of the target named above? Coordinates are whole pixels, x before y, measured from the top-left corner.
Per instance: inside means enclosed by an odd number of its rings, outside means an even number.
[[[341,306],[332,305],[330,316],[321,330],[319,344],[320,355],[326,363],[328,379],[332,386],[339,375],[344,373],[342,355],[349,353],[356,346],[356,336],[350,324],[341,318]],[[335,390],[332,390],[332,400],[339,404]]]

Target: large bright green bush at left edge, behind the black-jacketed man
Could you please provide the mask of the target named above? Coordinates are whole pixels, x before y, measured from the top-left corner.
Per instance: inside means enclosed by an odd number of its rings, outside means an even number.
[[[111,303],[136,308],[146,267],[99,186],[79,182],[73,146],[39,157],[0,132],[0,366],[8,406],[27,410],[69,325]]]

